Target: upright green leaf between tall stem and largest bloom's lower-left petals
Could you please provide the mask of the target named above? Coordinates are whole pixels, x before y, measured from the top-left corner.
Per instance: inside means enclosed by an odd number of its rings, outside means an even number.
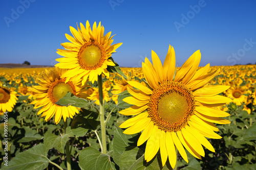
[[[120,163],[120,157],[125,151],[126,148],[131,147],[132,145],[132,138],[134,135],[126,135],[123,133],[123,130],[120,128],[114,127],[114,139],[113,139],[113,159],[116,162],[116,164],[119,165]]]

